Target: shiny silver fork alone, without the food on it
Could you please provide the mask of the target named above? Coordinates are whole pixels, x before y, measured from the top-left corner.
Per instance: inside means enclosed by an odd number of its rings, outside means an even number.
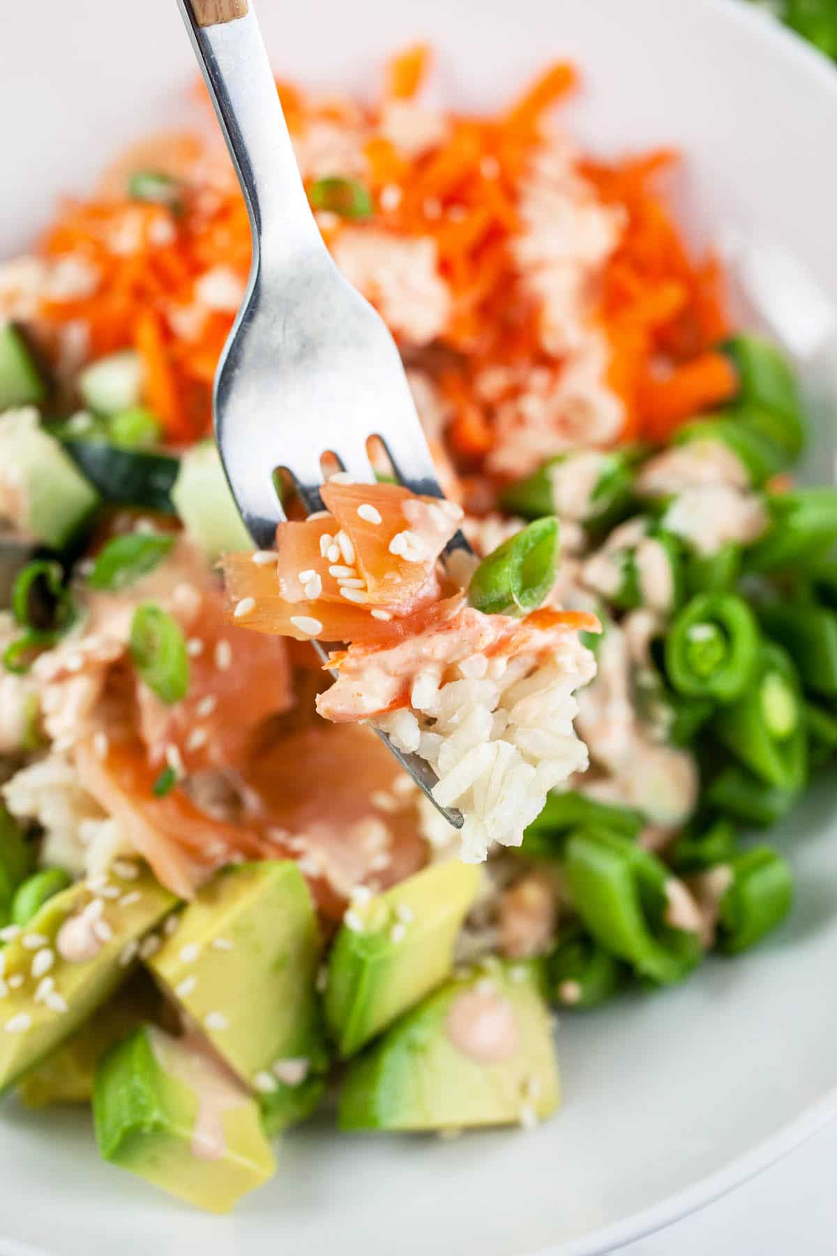
[[[370,436],[383,442],[405,487],[443,496],[395,343],[323,244],[252,0],[177,3],[252,232],[250,283],[218,365],[213,406],[223,466],[253,541],[271,548],[285,517],[277,470],[290,472],[309,511],[319,510],[323,453],[371,482]],[[450,548],[466,545],[458,534]],[[424,760],[380,736],[438,805]],[[459,811],[439,810],[462,825]]]

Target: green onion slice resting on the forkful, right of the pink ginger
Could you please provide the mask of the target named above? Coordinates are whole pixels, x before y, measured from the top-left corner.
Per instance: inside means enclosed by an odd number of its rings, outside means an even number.
[[[482,560],[471,578],[468,602],[487,615],[535,610],[555,584],[560,553],[557,519],[536,519]]]

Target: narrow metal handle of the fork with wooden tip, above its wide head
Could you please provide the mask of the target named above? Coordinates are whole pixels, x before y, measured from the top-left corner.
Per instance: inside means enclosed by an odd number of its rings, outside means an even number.
[[[252,0],[177,0],[241,183],[253,266],[320,241]]]

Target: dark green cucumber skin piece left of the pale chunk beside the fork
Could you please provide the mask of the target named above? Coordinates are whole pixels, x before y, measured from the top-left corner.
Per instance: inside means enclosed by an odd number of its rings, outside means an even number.
[[[103,440],[72,440],[65,441],[64,447],[95,485],[103,501],[176,514],[171,490],[179,470],[178,458],[125,450]]]

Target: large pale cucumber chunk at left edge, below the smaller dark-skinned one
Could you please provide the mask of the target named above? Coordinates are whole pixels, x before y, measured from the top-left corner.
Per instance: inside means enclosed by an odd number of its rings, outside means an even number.
[[[98,501],[60,442],[40,427],[34,407],[0,414],[0,517],[61,549]]]

